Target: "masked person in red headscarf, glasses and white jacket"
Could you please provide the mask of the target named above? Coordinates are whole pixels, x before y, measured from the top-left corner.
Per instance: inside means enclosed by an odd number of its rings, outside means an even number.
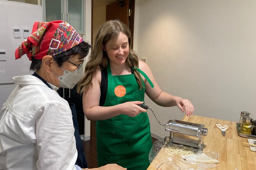
[[[72,112],[56,90],[82,79],[90,45],[64,21],[35,22],[32,32],[15,58],[26,54],[35,72],[13,77],[17,86],[0,112],[0,164],[6,170],[81,169]]]

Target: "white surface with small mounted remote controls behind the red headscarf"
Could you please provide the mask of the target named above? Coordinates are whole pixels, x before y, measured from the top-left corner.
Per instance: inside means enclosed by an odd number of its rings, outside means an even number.
[[[35,21],[42,21],[42,6],[0,0],[0,108],[16,86],[12,77],[32,74],[31,61],[26,55],[15,60],[15,50],[31,34]]]

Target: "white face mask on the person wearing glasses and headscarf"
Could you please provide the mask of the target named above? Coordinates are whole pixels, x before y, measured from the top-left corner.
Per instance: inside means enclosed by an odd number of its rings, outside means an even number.
[[[58,79],[60,80],[60,87],[63,88],[74,88],[79,80],[81,80],[85,75],[82,68],[77,69],[73,72],[65,70],[63,67],[61,68],[64,70],[63,75],[58,76],[54,73],[53,74],[58,77]]]

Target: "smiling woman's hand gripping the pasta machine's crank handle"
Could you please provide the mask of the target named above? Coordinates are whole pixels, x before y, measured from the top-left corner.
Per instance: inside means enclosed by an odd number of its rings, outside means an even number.
[[[141,112],[145,113],[147,110],[138,106],[138,104],[143,104],[143,101],[128,101],[126,103],[120,104],[121,113],[130,117],[135,117]]]

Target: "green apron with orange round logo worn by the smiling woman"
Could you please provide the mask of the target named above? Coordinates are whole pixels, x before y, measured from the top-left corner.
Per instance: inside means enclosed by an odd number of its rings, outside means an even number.
[[[135,68],[137,69],[137,68]],[[134,74],[112,75],[108,64],[108,90],[103,106],[114,106],[127,101],[144,101],[145,83],[142,89]],[[137,69],[146,79],[147,75]],[[135,117],[118,115],[96,122],[98,165],[118,164],[127,170],[146,170],[150,165],[148,154],[152,148],[150,123],[147,113]]]

